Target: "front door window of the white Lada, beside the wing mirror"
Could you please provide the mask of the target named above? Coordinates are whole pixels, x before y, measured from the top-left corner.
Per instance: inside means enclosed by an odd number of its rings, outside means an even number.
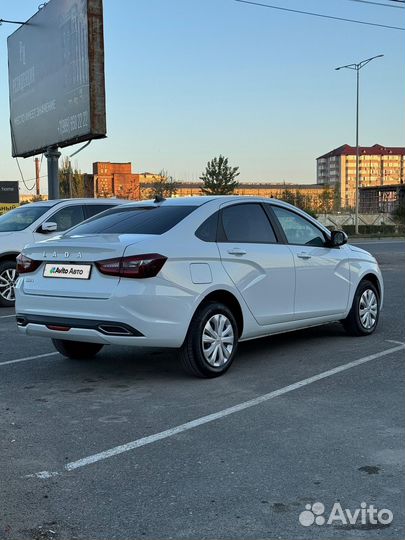
[[[272,208],[289,244],[325,246],[325,236],[318,227],[291,210],[275,205]]]

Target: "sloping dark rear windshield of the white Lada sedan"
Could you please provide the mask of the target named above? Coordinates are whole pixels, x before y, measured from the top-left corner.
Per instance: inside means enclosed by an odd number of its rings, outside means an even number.
[[[70,229],[65,236],[82,234],[163,234],[188,216],[196,206],[118,207]]]

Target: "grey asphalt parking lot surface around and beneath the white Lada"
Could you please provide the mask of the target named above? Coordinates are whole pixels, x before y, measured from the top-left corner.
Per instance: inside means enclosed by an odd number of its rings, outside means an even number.
[[[405,243],[359,245],[385,280],[375,334],[246,342],[219,379],[161,350],[67,360],[1,310],[0,538],[403,539]],[[314,502],[393,520],[304,526]]]

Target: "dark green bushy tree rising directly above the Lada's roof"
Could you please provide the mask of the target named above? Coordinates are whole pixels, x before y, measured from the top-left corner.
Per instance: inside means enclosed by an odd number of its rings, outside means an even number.
[[[205,172],[200,176],[204,182],[201,191],[204,195],[232,195],[239,187],[235,180],[239,176],[239,167],[228,165],[228,158],[220,155],[207,163]]]

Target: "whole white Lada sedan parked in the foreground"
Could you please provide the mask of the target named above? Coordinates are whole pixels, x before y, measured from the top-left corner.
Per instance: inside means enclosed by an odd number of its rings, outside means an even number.
[[[374,332],[381,272],[346,241],[276,199],[126,204],[23,250],[17,324],[70,358],[178,348],[188,372],[215,377],[239,341],[333,321]]]

